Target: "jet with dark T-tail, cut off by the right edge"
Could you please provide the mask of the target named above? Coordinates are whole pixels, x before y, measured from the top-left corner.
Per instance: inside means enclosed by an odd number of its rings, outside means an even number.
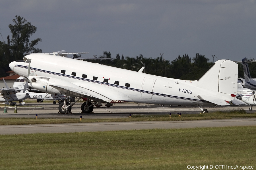
[[[247,61],[246,58],[243,58],[242,61],[234,61],[234,62],[243,64],[244,79],[238,78],[238,83],[241,83],[245,88],[248,88],[251,90],[256,90],[256,79],[251,78],[251,74],[250,74],[249,66],[248,66],[248,63],[256,62],[256,61],[255,60]]]

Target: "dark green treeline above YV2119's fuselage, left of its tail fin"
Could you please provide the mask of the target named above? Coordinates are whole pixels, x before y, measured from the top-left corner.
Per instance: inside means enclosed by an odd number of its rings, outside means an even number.
[[[108,57],[110,56],[110,57]],[[100,58],[111,58],[110,51],[104,51]],[[111,60],[90,60],[90,62],[97,62],[104,65],[118,67],[122,69],[128,69],[133,71],[139,71],[141,67],[145,66],[144,71],[147,74],[163,76],[168,78],[176,78],[183,80],[196,80],[199,79],[213,64],[208,62],[209,59],[205,55],[199,53],[192,59],[187,54],[178,56],[173,61],[164,59],[162,56],[153,58],[144,58],[142,54],[139,56],[124,58],[119,53],[116,58]]]

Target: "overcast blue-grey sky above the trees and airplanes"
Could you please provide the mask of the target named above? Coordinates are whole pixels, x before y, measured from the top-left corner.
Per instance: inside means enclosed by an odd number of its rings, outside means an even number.
[[[0,32],[15,16],[37,27],[43,52],[110,51],[170,61],[196,53],[212,61],[255,58],[255,0],[0,0]]]

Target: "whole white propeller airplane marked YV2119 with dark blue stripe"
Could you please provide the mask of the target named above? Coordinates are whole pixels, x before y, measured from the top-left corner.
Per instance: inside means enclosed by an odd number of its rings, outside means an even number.
[[[83,113],[93,111],[98,102],[121,100],[159,105],[230,105],[236,97],[238,64],[218,60],[200,80],[178,80],[119,69],[61,56],[30,54],[9,67],[28,80],[28,86],[50,94],[65,94],[60,113],[71,112],[77,102],[67,97],[87,98]],[[79,100],[78,99],[78,100]],[[96,102],[91,103],[94,100]]]

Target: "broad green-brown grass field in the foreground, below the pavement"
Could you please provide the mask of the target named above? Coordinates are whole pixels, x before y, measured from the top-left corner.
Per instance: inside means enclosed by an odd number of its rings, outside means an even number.
[[[0,169],[256,167],[255,126],[0,135]]]

